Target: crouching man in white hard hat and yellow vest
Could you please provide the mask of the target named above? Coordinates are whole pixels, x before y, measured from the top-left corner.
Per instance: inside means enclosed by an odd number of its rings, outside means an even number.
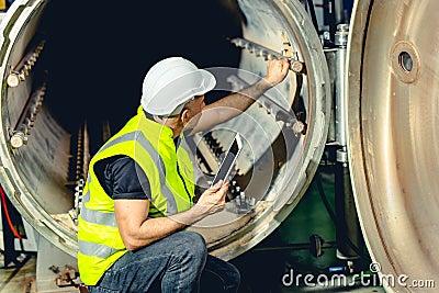
[[[266,77],[209,105],[204,94],[216,84],[211,72],[181,57],[149,69],[137,115],[90,161],[78,225],[78,266],[90,292],[198,292],[200,284],[237,291],[239,271],[184,230],[224,209],[228,182],[193,204],[192,162],[179,142],[185,129],[207,129],[245,111],[289,66],[271,60]]]

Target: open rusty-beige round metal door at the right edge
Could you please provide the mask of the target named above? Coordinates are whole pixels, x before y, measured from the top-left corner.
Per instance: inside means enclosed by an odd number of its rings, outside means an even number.
[[[435,0],[364,0],[351,22],[351,179],[373,268],[390,292],[439,282],[438,9]]]

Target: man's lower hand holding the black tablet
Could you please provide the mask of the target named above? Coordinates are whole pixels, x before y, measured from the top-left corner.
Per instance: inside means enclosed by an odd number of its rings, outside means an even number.
[[[221,180],[201,194],[200,200],[193,209],[204,216],[224,210],[227,190],[228,181],[223,184],[223,180]]]

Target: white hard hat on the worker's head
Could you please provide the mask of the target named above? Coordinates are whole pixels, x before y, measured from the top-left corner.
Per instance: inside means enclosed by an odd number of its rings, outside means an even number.
[[[216,84],[215,77],[182,57],[169,57],[154,65],[145,76],[140,104],[154,115],[176,115],[195,95]]]

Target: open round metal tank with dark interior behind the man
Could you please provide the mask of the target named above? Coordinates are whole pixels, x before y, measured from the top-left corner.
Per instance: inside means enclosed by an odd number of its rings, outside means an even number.
[[[319,38],[302,4],[239,0],[169,5],[93,2],[76,8],[59,1],[19,0],[4,20],[3,80],[20,69],[23,58],[42,41],[44,49],[16,87],[1,91],[0,183],[23,217],[72,256],[78,195],[88,161],[136,113],[146,71],[165,57],[183,56],[228,84],[209,93],[207,102],[266,72],[262,57],[240,50],[228,37],[278,52],[288,41],[306,67],[303,74],[290,72],[243,119],[223,125],[223,129],[240,132],[251,150],[250,162],[238,160],[236,177],[247,194],[258,196],[251,213],[227,210],[193,227],[214,255],[234,258],[275,229],[302,198],[320,159],[330,82]],[[293,114],[285,116],[285,109]],[[277,111],[283,115],[275,115]],[[306,124],[306,133],[294,133],[290,117]],[[194,138],[204,165],[215,161],[212,147],[228,146],[224,133],[214,129]],[[20,140],[21,135],[26,138],[24,145],[11,148],[11,138]],[[199,138],[204,143],[200,145]]]

